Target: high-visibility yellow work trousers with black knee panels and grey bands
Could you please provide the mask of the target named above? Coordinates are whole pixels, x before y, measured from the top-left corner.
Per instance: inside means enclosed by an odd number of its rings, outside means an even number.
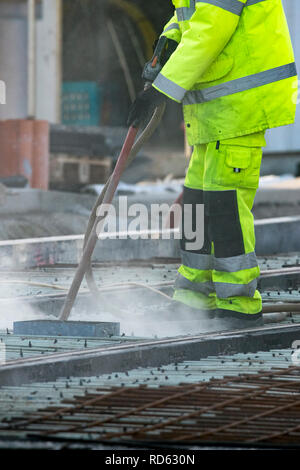
[[[183,215],[182,266],[175,300],[200,310],[223,309],[246,315],[261,312],[251,210],[264,145],[264,133],[257,133],[194,147],[183,204],[192,208],[193,230],[204,229],[204,243],[201,249],[191,248],[191,240],[185,238]],[[204,218],[197,221],[199,204],[204,205]]]

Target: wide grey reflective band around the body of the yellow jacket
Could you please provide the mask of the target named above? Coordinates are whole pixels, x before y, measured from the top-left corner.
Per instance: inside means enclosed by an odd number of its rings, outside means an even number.
[[[265,72],[255,73],[247,77],[237,78],[221,85],[204,88],[202,90],[188,91],[183,99],[183,104],[207,103],[208,101],[222,98],[223,96],[233,95],[242,91],[251,90],[263,85],[269,85],[285,78],[291,78],[297,75],[295,62],[291,64],[275,67]]]

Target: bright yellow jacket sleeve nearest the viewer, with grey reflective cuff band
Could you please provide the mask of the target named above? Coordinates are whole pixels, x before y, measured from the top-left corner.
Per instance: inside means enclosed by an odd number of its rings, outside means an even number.
[[[232,37],[245,2],[233,0],[238,6],[233,12],[228,9],[228,0],[198,0],[189,28],[153,82],[154,88],[181,102]]]

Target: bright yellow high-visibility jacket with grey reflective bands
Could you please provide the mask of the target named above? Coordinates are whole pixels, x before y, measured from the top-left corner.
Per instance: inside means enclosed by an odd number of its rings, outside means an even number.
[[[297,71],[281,0],[172,0],[179,43],[153,86],[184,105],[190,145],[294,122]]]

